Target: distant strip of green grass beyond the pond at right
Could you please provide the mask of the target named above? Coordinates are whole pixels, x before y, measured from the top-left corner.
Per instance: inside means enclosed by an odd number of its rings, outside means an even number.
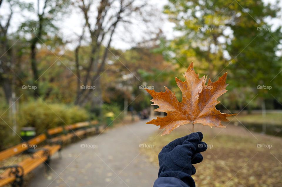
[[[239,114],[234,117],[229,117],[231,122],[253,123],[253,124],[267,124],[267,125],[281,125],[282,126],[282,113],[266,113],[262,114]],[[239,123],[240,123],[239,122]]]

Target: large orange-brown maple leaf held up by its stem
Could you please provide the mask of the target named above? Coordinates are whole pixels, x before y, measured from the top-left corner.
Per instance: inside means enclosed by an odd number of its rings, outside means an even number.
[[[208,125],[211,128],[225,126],[221,124],[221,121],[229,121],[227,116],[234,116],[236,114],[223,114],[219,110],[216,110],[215,105],[219,103],[217,98],[227,92],[225,89],[227,72],[223,76],[219,77],[216,82],[212,82],[209,79],[207,85],[207,77],[203,76],[199,78],[199,74],[196,74],[193,69],[193,62],[187,68],[184,73],[186,80],[182,82],[175,77],[177,86],[182,92],[182,102],[179,102],[175,97],[175,93],[165,88],[165,92],[155,92],[155,90],[147,90],[153,97],[151,101],[152,105],[158,105],[159,108],[155,111],[162,111],[167,113],[165,117],[157,117],[147,122],[147,124],[155,124],[161,128],[165,128],[162,135],[169,134],[175,128],[191,123],[202,123]]]

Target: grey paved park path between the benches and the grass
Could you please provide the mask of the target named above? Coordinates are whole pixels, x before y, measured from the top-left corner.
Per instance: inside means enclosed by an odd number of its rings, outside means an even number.
[[[61,159],[57,154],[52,157],[51,171],[46,173],[43,166],[34,170],[27,186],[153,186],[158,168],[140,154],[139,144],[157,126],[145,124],[146,121],[119,126],[63,147]]]

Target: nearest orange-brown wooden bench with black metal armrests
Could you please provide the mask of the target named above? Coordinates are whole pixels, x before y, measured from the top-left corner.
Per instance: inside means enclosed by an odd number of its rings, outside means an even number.
[[[31,156],[18,164],[0,167],[0,169],[4,170],[4,172],[0,174],[0,186],[4,186],[12,182],[12,186],[21,186],[23,182],[23,176],[28,174],[42,163],[48,165],[50,162],[50,157],[61,149],[61,145],[45,145],[38,149],[31,148],[45,140],[46,135],[42,134],[29,140],[28,142],[21,143],[0,152],[0,161],[14,155],[18,155],[24,151],[29,152]]]

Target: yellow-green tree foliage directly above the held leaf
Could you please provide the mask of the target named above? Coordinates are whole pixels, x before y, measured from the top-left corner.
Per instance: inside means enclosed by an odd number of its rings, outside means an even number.
[[[224,42],[229,39],[225,32],[228,30],[226,20],[231,19],[231,15],[230,12],[221,10],[230,3],[213,0],[170,0],[164,6],[164,13],[175,23],[174,29],[180,36],[164,48],[164,53],[173,52],[172,61],[182,68],[186,68],[192,60],[200,61],[200,73],[217,76],[216,70],[223,69],[228,64],[224,59]]]

